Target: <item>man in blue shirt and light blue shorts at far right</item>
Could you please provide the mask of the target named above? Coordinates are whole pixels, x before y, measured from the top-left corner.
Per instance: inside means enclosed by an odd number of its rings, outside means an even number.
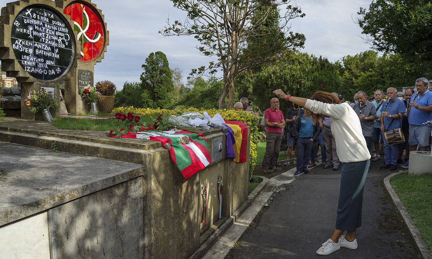
[[[410,123],[408,144],[410,145],[410,151],[415,151],[417,145],[419,145],[421,151],[428,150],[432,128],[429,125],[423,125],[424,122],[432,120],[432,92],[428,91],[428,85],[428,79],[424,77],[417,79],[417,92],[411,97],[411,106],[408,110],[408,123]]]

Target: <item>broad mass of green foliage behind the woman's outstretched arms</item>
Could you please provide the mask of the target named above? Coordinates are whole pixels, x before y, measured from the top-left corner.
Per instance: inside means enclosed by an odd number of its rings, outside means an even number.
[[[338,66],[327,58],[307,53],[286,52],[278,65],[268,65],[256,74],[250,74],[244,81],[252,89],[254,104],[261,109],[270,107],[273,90],[281,88],[290,95],[308,98],[318,90],[330,91],[339,88],[341,81]],[[280,109],[291,107],[281,102]]]

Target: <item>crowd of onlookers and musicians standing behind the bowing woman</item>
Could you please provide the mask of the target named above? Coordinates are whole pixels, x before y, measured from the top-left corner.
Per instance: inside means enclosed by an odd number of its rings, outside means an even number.
[[[416,80],[413,88],[407,88],[405,92],[390,87],[385,92],[377,89],[373,96],[368,96],[359,91],[354,95],[352,103],[345,101],[343,95],[332,94],[339,99],[339,104],[348,103],[357,115],[362,134],[355,137],[365,140],[371,161],[384,160],[380,169],[394,171],[397,164],[408,168],[410,151],[426,151],[430,148],[432,127],[423,124],[432,120],[432,87],[428,88],[429,80],[422,77]],[[241,98],[235,103],[235,110],[252,112],[248,102],[247,98]],[[267,134],[262,162],[264,174],[282,170],[282,164],[278,164],[277,160],[284,131],[288,150],[283,165],[291,163],[294,151],[293,163],[297,167],[295,175],[307,174],[309,168],[316,166],[320,147],[323,168],[339,170],[341,162],[336,148],[337,136],[332,130],[332,120],[335,118],[323,117],[314,121],[311,111],[302,109],[298,104],[293,104],[284,116],[279,107],[279,99],[272,98],[270,108],[265,111],[261,121],[261,128]]]

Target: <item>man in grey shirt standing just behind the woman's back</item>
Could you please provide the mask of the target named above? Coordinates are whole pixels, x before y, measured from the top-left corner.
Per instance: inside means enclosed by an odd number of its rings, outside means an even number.
[[[357,92],[356,101],[358,101],[358,103],[353,106],[353,109],[356,114],[359,115],[362,133],[365,137],[368,150],[371,152],[373,145],[372,133],[374,131],[374,120],[377,116],[377,111],[375,105],[368,101],[368,95],[366,95],[365,92]]]

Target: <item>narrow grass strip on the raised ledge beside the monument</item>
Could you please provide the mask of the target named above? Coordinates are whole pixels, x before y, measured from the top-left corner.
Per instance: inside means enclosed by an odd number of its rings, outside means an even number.
[[[91,119],[73,119],[73,118],[56,118],[51,125],[64,130],[100,130],[110,131],[112,129],[112,120],[91,120]]]

